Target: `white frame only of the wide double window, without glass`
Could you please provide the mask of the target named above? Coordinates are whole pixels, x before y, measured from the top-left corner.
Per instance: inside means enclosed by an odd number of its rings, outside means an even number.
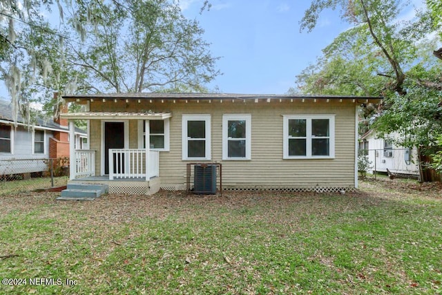
[[[335,146],[335,115],[282,115],[283,127],[282,127],[282,158],[283,159],[334,159],[334,146]],[[327,119],[329,120],[329,155],[311,155],[311,140],[314,138],[311,136],[311,120],[314,119]],[[289,120],[307,120],[307,133],[306,133],[306,155],[289,155]]]

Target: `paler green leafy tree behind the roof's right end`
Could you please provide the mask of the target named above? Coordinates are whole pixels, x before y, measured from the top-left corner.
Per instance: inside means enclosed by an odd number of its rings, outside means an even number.
[[[383,77],[374,75],[380,66],[378,51],[359,26],[341,33],[323,49],[323,57],[296,76],[302,93],[327,95],[381,95]]]

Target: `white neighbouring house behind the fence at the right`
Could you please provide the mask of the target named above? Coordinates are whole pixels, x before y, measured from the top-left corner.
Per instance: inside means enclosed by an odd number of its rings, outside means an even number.
[[[365,150],[372,169],[369,173],[383,172],[387,169],[392,173],[419,175],[419,163],[416,149],[406,149],[402,146],[394,146],[394,140],[398,134],[392,133],[390,136],[380,138],[376,136],[376,131],[370,130],[361,136],[359,149]]]

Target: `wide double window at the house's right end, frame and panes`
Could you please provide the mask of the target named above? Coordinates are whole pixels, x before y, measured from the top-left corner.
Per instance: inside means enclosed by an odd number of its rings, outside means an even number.
[[[334,115],[285,115],[284,159],[334,158]]]

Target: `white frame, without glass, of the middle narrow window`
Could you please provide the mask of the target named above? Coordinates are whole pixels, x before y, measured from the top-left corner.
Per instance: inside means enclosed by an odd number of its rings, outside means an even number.
[[[229,140],[235,140],[228,137],[229,121],[245,121],[246,137],[241,140],[246,141],[245,157],[229,157]],[[222,115],[222,160],[251,160],[251,115],[250,114],[225,114]]]

